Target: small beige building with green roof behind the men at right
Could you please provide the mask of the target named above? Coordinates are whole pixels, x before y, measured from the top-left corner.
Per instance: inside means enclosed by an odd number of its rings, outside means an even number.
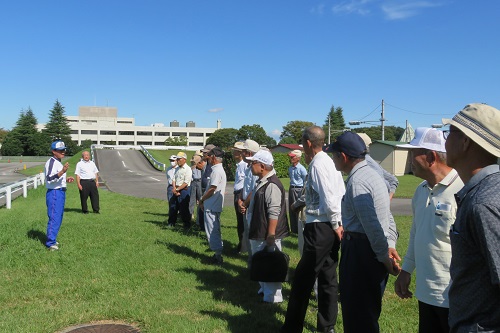
[[[387,172],[396,176],[408,174],[411,172],[408,148],[398,147],[404,143],[401,141],[374,141],[370,145],[370,156]]]

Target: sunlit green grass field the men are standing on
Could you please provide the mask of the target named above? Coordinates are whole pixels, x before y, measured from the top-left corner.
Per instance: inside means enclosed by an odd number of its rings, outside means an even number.
[[[53,333],[106,320],[135,324],[146,333],[278,331],[290,284],[283,285],[284,303],[260,303],[246,256],[235,253],[234,210],[222,214],[225,262],[214,267],[205,263],[212,253],[203,233],[165,228],[166,202],[105,190],[100,196],[101,214],[83,215],[76,185],[68,185],[57,252],[44,246],[43,187],[16,199],[11,210],[0,208],[0,332]],[[396,222],[403,256],[411,217],[396,216]],[[293,274],[297,238],[286,238],[283,246]],[[416,332],[417,302],[400,300],[393,283],[391,277],[382,332]],[[312,300],[305,332],[314,331],[315,307]],[[340,311],[336,328],[343,331]]]

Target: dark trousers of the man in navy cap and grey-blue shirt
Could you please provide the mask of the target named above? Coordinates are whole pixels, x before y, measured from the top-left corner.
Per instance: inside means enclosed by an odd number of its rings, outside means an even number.
[[[341,253],[339,289],[344,332],[378,333],[389,274],[364,234],[344,234]]]

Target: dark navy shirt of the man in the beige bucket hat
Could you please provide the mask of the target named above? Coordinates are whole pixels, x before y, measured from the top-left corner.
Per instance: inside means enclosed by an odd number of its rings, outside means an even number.
[[[500,330],[500,169],[489,165],[457,195],[450,231],[450,332]],[[487,330],[487,329],[490,330]]]

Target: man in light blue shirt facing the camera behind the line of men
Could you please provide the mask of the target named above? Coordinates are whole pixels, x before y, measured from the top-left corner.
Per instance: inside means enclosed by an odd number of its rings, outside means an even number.
[[[300,158],[302,157],[302,152],[298,149],[292,150],[288,153],[290,157],[290,166],[288,167],[288,176],[290,177],[290,188],[288,189],[288,207],[291,207],[293,203],[301,196],[302,189],[304,187],[304,182],[307,177],[307,170],[302,164],[300,164]],[[289,208],[290,216],[290,230],[297,234],[299,231],[299,220],[298,213]]]

